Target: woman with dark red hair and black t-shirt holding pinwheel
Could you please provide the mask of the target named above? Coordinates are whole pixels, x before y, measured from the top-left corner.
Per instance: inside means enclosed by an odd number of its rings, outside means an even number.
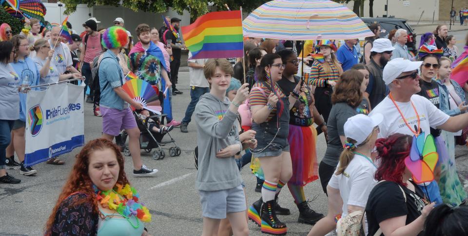
[[[394,134],[377,139],[380,160],[375,179],[380,181],[370,192],[366,206],[369,235],[416,236],[435,203],[428,205],[424,193],[409,180],[405,165],[412,143],[409,135]]]

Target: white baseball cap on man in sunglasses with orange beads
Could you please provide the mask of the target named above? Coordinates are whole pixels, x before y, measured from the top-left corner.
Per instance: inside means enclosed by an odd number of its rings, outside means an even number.
[[[422,61],[410,61],[403,58],[395,58],[390,60],[387,65],[384,67],[384,72],[382,77],[384,79],[385,85],[389,85],[393,80],[398,78],[401,73],[413,71],[418,69]]]

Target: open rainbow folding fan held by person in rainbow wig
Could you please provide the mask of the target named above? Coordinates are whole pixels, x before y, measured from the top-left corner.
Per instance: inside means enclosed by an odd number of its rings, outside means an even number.
[[[143,79],[130,79],[122,86],[122,89],[134,101],[147,106],[149,102],[158,99],[158,91]]]

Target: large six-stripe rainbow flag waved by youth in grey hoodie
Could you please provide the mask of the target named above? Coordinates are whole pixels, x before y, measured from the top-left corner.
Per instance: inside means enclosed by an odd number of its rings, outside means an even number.
[[[182,27],[192,59],[239,58],[244,56],[240,11],[211,12]]]

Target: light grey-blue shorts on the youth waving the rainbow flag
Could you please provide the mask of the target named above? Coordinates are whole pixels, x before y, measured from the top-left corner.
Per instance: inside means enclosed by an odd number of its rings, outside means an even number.
[[[227,213],[242,212],[247,209],[242,185],[218,191],[198,190],[203,217],[224,219]]]

